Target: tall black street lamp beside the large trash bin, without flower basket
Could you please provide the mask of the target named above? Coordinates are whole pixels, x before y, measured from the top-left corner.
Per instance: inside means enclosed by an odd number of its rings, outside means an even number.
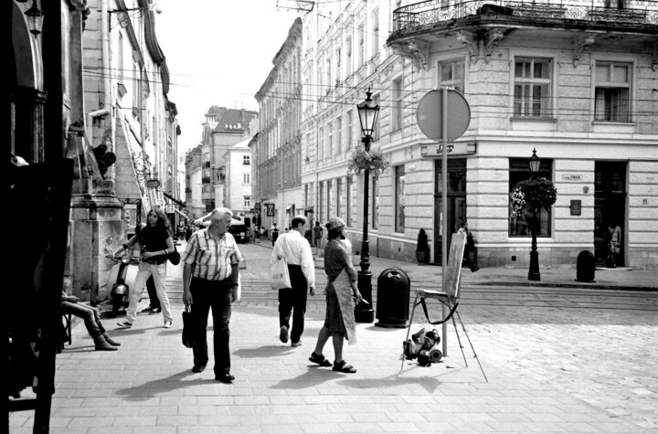
[[[366,101],[356,105],[358,111],[359,122],[361,123],[361,132],[363,138],[361,142],[364,143],[366,153],[370,152],[370,142],[372,142],[372,134],[375,131],[375,123],[379,115],[379,106],[371,106],[372,100],[370,99],[372,92],[368,89],[366,91]],[[375,321],[375,312],[372,308],[372,273],[368,270],[370,268],[370,249],[368,247],[367,239],[367,215],[368,215],[368,194],[370,188],[370,170],[364,170],[364,206],[363,206],[363,240],[361,241],[361,270],[358,272],[358,289],[361,296],[368,302],[361,302],[355,308],[356,323],[372,323]]]

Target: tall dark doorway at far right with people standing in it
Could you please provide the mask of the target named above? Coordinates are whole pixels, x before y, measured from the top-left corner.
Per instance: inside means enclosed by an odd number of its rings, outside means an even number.
[[[608,226],[621,228],[621,249],[616,266],[624,266],[626,259],[626,163],[594,163],[594,258],[598,266],[605,266],[608,255]]]

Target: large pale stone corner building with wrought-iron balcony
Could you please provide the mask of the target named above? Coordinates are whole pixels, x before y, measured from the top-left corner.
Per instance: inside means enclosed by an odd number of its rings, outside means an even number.
[[[450,232],[469,221],[481,267],[528,267],[532,215],[513,217],[509,195],[531,176],[536,149],[538,175],[557,187],[537,215],[542,268],[575,267],[582,250],[602,265],[616,223],[618,266],[658,269],[658,3],[349,2],[313,14],[302,186],[318,219],[345,218],[356,248],[363,175],[345,166],[369,88],[381,108],[371,146],[391,162],[370,183],[370,253],[413,261],[424,228],[440,263],[440,151],[416,111],[429,90],[449,87],[471,122],[451,143],[445,217]]]

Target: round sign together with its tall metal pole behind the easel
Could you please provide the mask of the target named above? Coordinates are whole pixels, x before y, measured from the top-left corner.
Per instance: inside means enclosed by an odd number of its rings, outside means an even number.
[[[448,109],[450,108],[450,111]],[[419,101],[417,120],[420,131],[441,147],[441,288],[446,292],[448,262],[448,143],[462,136],[471,122],[471,108],[457,90],[430,90]],[[443,318],[448,314],[441,305]],[[443,355],[448,355],[448,323],[441,324]]]

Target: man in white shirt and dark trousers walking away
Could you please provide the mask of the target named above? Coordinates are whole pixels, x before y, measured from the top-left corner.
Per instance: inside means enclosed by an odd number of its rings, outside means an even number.
[[[288,264],[292,288],[279,289],[279,337],[283,344],[287,343],[290,331],[292,346],[302,344],[307,292],[310,290],[311,295],[315,295],[313,252],[308,240],[303,237],[306,224],[306,217],[292,217],[292,230],[277,238],[270,259],[272,264],[282,257]]]

